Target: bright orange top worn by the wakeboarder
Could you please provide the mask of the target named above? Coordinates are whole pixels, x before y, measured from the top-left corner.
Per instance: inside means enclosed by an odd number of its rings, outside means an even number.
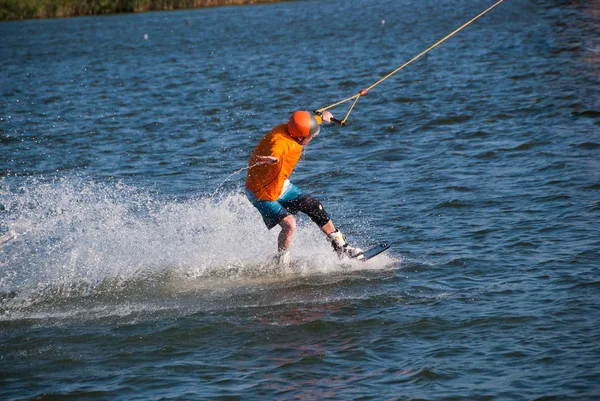
[[[246,188],[254,192],[258,200],[279,199],[285,180],[292,174],[300,159],[302,145],[294,140],[287,130],[287,124],[280,124],[261,139],[250,157]],[[255,166],[258,156],[275,156],[275,164]]]

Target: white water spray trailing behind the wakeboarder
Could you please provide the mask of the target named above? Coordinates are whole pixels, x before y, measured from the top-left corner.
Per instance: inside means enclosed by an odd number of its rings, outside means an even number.
[[[57,298],[151,298],[365,268],[341,264],[309,223],[299,225],[296,263],[275,266],[277,230],[260,223],[241,191],[173,200],[72,177],[3,188],[0,314]]]

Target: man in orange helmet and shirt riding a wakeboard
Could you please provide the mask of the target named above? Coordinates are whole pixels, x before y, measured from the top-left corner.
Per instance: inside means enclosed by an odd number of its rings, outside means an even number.
[[[332,118],[328,111],[322,117],[308,111],[296,111],[287,124],[276,126],[265,135],[250,157],[246,195],[261,213],[269,230],[281,226],[277,239],[279,263],[289,264],[289,248],[296,231],[294,215],[298,212],[308,215],[321,228],[340,258],[362,258],[362,250],[348,245],[323,205],[288,180],[303,147],[317,136],[321,123],[331,122]]]

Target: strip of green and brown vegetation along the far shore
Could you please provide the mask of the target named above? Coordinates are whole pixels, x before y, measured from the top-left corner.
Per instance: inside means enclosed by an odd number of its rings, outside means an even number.
[[[0,0],[0,21],[74,17],[182,8],[276,2],[277,0]]]

